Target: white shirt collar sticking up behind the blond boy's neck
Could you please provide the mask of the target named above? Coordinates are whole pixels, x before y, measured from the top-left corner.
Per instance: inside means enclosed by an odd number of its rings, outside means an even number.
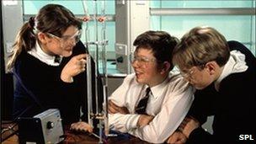
[[[232,73],[245,72],[247,69],[248,66],[246,65],[245,56],[243,55],[243,53],[236,50],[231,51],[230,57],[225,64],[223,71],[221,72],[221,76],[215,82],[216,90],[219,90],[222,79]]]

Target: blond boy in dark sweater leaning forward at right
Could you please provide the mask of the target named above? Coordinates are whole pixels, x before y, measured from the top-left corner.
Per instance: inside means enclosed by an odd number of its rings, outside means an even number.
[[[197,91],[179,126],[184,135],[175,132],[168,142],[186,136],[195,144],[255,143],[256,59],[247,47],[211,27],[196,27],[175,47],[173,63]],[[200,127],[210,115],[213,135]]]

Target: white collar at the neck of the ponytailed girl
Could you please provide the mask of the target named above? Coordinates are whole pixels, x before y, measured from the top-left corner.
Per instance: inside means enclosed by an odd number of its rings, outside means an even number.
[[[45,62],[47,65],[50,66],[59,66],[60,63],[59,62],[55,62],[55,56],[50,56],[48,54],[46,54],[44,51],[42,51],[38,41],[36,41],[35,43],[35,48],[32,49],[31,51],[28,51],[28,53],[31,56],[35,56],[35,58],[39,59],[40,61]],[[62,57],[60,57],[62,58]]]

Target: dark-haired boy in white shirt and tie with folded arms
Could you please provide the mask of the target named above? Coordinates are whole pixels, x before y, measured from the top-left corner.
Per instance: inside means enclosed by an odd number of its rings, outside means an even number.
[[[141,140],[163,143],[175,131],[193,101],[194,88],[170,72],[177,38],[163,31],[137,36],[131,64],[135,73],[109,97],[109,126]]]

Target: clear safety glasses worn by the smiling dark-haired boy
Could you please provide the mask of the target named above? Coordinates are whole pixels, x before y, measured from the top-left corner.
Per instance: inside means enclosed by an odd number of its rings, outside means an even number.
[[[156,58],[150,58],[150,57],[147,57],[147,56],[136,56],[136,54],[132,53],[130,55],[130,61],[131,61],[131,63],[134,63],[135,61],[137,61],[140,65],[147,66],[147,64],[149,62],[157,61],[157,59]]]

